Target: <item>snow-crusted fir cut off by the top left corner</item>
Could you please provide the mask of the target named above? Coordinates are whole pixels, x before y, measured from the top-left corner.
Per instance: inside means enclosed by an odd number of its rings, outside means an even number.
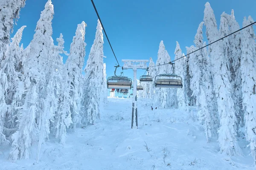
[[[26,0],[0,1],[0,61],[6,57],[6,45],[10,44],[10,31],[14,20],[20,16],[20,8],[25,6]]]

